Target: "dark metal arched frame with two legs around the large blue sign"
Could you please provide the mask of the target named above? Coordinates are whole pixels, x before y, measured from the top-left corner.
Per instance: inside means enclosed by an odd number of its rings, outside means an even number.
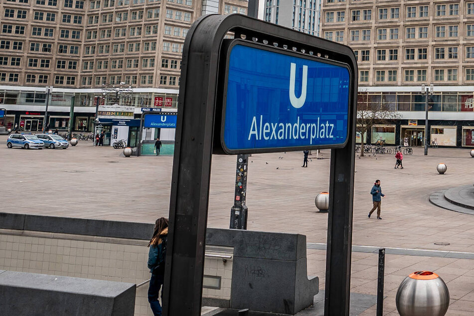
[[[204,246],[213,148],[220,148],[216,104],[225,74],[221,48],[235,38],[307,52],[349,66],[353,80],[348,140],[331,149],[326,250],[325,315],[348,315],[352,244],[352,201],[357,64],[352,50],[289,28],[240,14],[206,15],[191,26],[182,54],[181,86],[169,205],[163,285],[164,316],[200,315]],[[220,88],[219,88],[220,87]]]

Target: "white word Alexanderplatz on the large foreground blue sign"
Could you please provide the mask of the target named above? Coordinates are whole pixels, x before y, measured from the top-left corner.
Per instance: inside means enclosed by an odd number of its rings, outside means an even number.
[[[309,140],[313,145],[315,139],[334,138],[332,132],[334,124],[329,121],[320,121],[317,118],[315,123],[301,123],[298,117],[296,123],[264,122],[263,115],[259,119],[253,117],[250,125],[249,141],[255,140]]]

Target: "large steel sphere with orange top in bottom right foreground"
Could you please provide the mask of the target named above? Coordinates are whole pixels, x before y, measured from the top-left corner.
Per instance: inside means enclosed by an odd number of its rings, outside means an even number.
[[[436,273],[417,271],[402,281],[395,302],[400,316],[444,316],[449,290]]]

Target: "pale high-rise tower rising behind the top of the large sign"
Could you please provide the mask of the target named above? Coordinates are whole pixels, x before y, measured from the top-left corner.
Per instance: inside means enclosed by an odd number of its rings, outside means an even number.
[[[319,36],[321,0],[266,0],[264,20]]]

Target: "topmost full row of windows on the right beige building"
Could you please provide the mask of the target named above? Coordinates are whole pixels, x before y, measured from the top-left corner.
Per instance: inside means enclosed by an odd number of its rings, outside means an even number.
[[[434,16],[457,16],[460,14],[459,3],[453,4],[436,4],[433,6]],[[410,5],[405,6],[405,18],[429,18],[429,5]],[[474,15],[474,2],[466,3],[466,15]],[[326,23],[337,23],[345,22],[346,11],[326,11],[325,22]],[[378,20],[388,20],[400,18],[400,7],[385,7],[378,8],[377,10]],[[350,10],[351,22],[356,21],[370,21],[372,20],[372,9],[353,9]]]

